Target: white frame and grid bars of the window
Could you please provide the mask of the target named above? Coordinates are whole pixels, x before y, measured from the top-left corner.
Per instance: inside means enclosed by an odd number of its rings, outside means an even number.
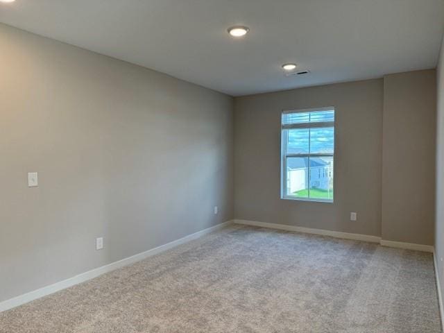
[[[302,112],[315,112],[315,111],[330,111],[333,110],[334,111],[334,121],[322,121],[322,122],[318,122],[318,123],[292,123],[292,124],[282,124],[282,115],[283,114],[288,114],[288,113],[302,113]],[[321,199],[321,198],[298,198],[296,196],[289,196],[287,194],[287,157],[332,157],[333,159],[333,165],[334,165],[334,154],[336,152],[336,126],[335,126],[335,121],[336,121],[336,110],[333,106],[329,106],[329,107],[323,107],[323,108],[310,108],[310,109],[300,109],[300,110],[294,110],[294,109],[289,109],[289,110],[282,110],[282,114],[280,117],[280,122],[281,122],[281,172],[280,172],[280,177],[281,177],[281,198],[285,199],[285,200],[298,200],[298,201],[310,201],[310,202],[321,202],[321,203],[333,203],[334,202],[334,191],[336,186],[334,185],[334,171],[333,171],[333,199]],[[288,154],[287,153],[287,135],[288,132],[285,131],[286,129],[291,129],[291,128],[321,128],[321,127],[332,127],[334,128],[334,148],[333,148],[333,153],[332,154],[311,154],[311,153],[306,153],[306,154]],[[309,171],[310,173],[310,171]],[[310,179],[310,175],[308,176]],[[308,186],[309,188],[309,186]],[[309,190],[309,189],[308,189]]]

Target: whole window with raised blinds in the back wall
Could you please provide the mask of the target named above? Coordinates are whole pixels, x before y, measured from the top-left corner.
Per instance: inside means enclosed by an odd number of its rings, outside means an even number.
[[[333,202],[334,108],[282,112],[282,198]]]

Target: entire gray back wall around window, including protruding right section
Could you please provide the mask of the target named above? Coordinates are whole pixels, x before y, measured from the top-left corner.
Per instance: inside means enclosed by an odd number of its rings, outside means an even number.
[[[434,244],[435,75],[235,99],[234,218]],[[280,114],[322,106],[336,110],[334,203],[282,200]]]

